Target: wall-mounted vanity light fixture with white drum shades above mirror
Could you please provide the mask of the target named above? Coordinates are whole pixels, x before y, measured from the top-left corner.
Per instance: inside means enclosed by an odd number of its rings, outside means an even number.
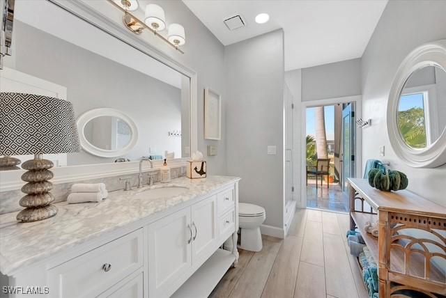
[[[159,32],[166,29],[166,19],[164,10],[161,6],[156,4],[148,4],[145,8],[144,22],[138,17],[135,17],[131,11],[139,9],[139,3],[137,0],[107,0],[112,3],[116,8],[121,10],[123,15],[123,23],[125,27],[135,34],[141,34],[144,29],[148,29],[153,32],[155,36],[161,38],[165,42],[169,43],[172,47],[184,54],[179,49],[181,45],[186,42],[184,27],[180,24],[171,24],[167,33],[167,38],[162,36]]]

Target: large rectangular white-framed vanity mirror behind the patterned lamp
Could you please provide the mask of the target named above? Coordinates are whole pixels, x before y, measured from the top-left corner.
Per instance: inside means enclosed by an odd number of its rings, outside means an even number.
[[[80,1],[16,1],[1,91],[68,100],[81,126],[81,152],[45,158],[63,167],[190,157],[197,146],[194,72],[120,18],[92,11]]]

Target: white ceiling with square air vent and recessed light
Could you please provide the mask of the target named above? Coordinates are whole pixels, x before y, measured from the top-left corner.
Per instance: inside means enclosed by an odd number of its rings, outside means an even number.
[[[285,70],[362,56],[387,0],[183,0],[208,29],[231,45],[283,28]],[[268,13],[270,21],[254,18]],[[242,15],[246,26],[229,31],[223,20]]]

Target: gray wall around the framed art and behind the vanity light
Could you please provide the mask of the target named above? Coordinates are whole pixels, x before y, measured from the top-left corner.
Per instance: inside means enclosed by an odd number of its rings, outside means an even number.
[[[148,2],[144,2],[148,3]],[[143,5],[144,3],[140,3]],[[150,42],[155,47],[166,54],[173,56],[180,63],[183,63],[197,72],[198,77],[198,100],[197,100],[197,118],[198,118],[198,148],[203,152],[207,161],[207,170],[209,175],[224,175],[226,173],[226,93],[224,89],[224,46],[213,36],[206,26],[185,6],[182,1],[162,1],[154,0],[166,14],[168,22],[174,21],[182,24],[186,29],[186,43],[181,48],[185,54],[180,54],[169,45],[160,41],[159,38],[153,38]],[[220,92],[222,95],[222,140],[213,141],[204,139],[203,129],[203,97],[204,88],[210,87]],[[206,156],[208,144],[217,146],[218,154],[216,156]]]

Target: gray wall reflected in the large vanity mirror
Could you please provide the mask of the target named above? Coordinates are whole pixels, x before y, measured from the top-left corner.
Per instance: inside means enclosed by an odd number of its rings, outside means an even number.
[[[127,114],[138,127],[136,146],[124,155],[131,160],[148,155],[148,148],[176,151],[181,140],[168,136],[181,130],[180,89],[137,70],[94,54],[22,22],[16,22],[15,68],[29,75],[65,86],[75,116],[97,108],[113,108]],[[149,57],[148,57],[149,58]],[[183,130],[187,130],[185,125]],[[82,151],[68,155],[68,165],[113,162]]]

